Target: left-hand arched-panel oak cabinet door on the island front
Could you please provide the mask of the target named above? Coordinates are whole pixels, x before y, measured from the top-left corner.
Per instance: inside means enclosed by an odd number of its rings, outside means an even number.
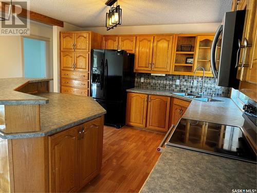
[[[79,129],[77,126],[49,136],[49,191],[70,192],[79,188]]]

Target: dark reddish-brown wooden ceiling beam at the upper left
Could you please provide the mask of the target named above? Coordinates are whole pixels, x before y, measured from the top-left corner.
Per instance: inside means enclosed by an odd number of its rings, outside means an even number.
[[[5,2],[0,2],[0,10],[5,11],[5,6],[9,5]],[[22,10],[21,10],[22,9]],[[30,11],[24,8],[15,7],[12,5],[12,14],[16,13],[20,17],[27,18],[27,13],[29,13],[29,19],[32,21],[40,22],[43,24],[51,25],[51,26],[59,26],[63,27],[63,21],[53,19],[52,17],[48,17],[46,15],[36,13],[34,11]]]

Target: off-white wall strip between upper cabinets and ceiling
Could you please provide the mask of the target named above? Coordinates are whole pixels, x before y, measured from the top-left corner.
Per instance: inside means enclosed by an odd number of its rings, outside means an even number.
[[[83,30],[95,31],[100,34],[143,34],[143,33],[214,33],[220,23],[176,24],[148,26],[118,26],[109,31],[105,27],[87,27]]]

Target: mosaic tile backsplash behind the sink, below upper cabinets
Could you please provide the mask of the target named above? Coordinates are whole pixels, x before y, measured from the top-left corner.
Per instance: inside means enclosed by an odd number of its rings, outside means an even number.
[[[143,82],[141,82],[141,77],[144,78]],[[179,80],[179,85],[176,85],[176,80]],[[194,85],[191,85],[192,80],[193,76],[186,75],[151,76],[148,73],[136,73],[135,87],[161,91],[201,93],[202,77],[196,76]],[[213,92],[214,96],[228,97],[230,90],[229,87],[217,86],[215,78],[205,77],[204,94],[211,95]]]

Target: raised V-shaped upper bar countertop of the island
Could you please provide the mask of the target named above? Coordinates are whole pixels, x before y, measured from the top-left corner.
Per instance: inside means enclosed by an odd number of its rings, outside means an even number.
[[[42,82],[50,78],[0,78],[0,104],[46,104],[47,98],[14,91],[29,82]]]

